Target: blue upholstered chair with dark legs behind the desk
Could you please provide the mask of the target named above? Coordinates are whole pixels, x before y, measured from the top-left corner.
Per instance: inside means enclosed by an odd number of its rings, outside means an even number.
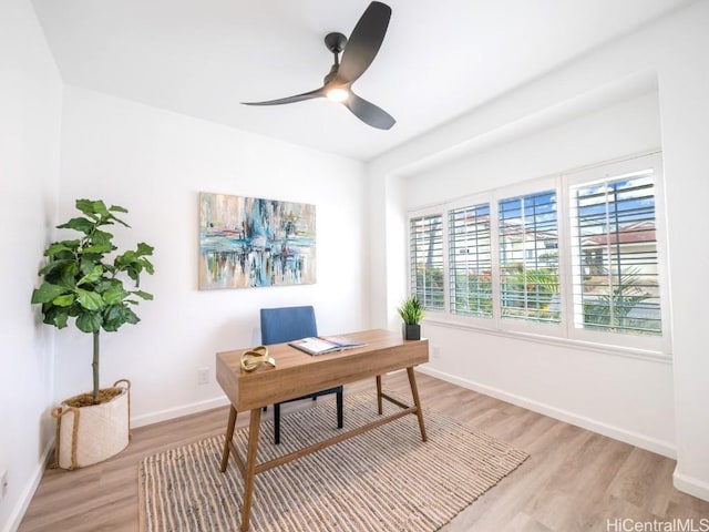
[[[261,308],[261,344],[282,344],[285,341],[299,340],[318,336],[318,326],[315,319],[312,306]],[[280,443],[280,406],[301,399],[316,400],[319,396],[337,393],[337,427],[342,428],[342,386],[316,391],[307,396],[289,399],[274,405],[274,443]]]

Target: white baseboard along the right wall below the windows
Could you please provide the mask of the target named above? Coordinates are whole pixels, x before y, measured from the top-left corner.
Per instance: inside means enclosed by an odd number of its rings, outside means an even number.
[[[599,434],[607,436],[608,438],[624,441],[626,443],[630,443],[631,446],[639,447],[640,449],[646,449],[648,451],[656,452],[658,454],[661,454],[664,457],[671,458],[671,459],[677,458],[677,450],[675,446],[668,441],[657,440],[655,438],[648,438],[644,434],[640,434],[630,430],[625,430],[619,427],[614,427],[607,423],[599,422],[595,419],[586,418],[584,416],[578,416],[568,410],[563,410],[561,408],[556,408],[551,405],[534,401],[525,397],[516,396],[514,393],[508,393],[504,390],[481,385],[480,382],[474,382],[467,379],[461,379],[460,377],[455,377],[444,371],[433,369],[429,366],[419,366],[417,369],[420,370],[422,374],[430,375],[431,377],[435,377],[441,380],[445,380],[448,382],[462,386],[463,388],[467,388],[470,390],[477,391],[486,396],[492,396],[496,399],[511,402],[513,405],[526,408],[534,412],[549,416],[551,418],[558,419],[566,423],[575,424],[583,429],[598,432]]]

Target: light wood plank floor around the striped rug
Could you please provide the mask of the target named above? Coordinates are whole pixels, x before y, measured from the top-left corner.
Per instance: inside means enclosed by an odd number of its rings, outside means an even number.
[[[701,530],[700,520],[709,519],[709,502],[672,488],[672,460],[417,375],[424,408],[442,411],[531,454],[516,471],[449,523],[445,532],[607,532],[621,530],[608,528],[608,520],[667,522],[678,518],[693,519],[696,530]],[[405,374],[386,376],[384,386],[408,392]],[[347,388],[373,390],[374,385],[372,380]],[[330,400],[332,396],[318,399]],[[302,401],[287,407],[290,410],[311,405],[312,401]],[[134,430],[129,448],[111,460],[78,471],[47,470],[19,532],[137,531],[138,460],[223,432],[226,419],[227,410],[223,408],[143,427]],[[240,416],[237,427],[245,426],[247,419],[248,416]]]

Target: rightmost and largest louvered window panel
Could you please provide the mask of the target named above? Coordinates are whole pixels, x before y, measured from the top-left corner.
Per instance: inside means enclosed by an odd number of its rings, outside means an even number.
[[[572,186],[574,326],[660,335],[654,171]]]

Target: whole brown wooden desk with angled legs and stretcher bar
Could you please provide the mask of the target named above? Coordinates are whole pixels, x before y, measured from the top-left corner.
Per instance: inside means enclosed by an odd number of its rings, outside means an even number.
[[[429,361],[428,340],[404,341],[401,332],[372,329],[350,332],[342,336],[364,342],[364,346],[337,351],[327,355],[311,356],[287,344],[268,346],[268,354],[276,359],[276,368],[261,366],[256,371],[247,374],[240,368],[240,356],[248,348],[217,354],[217,381],[229,398],[232,408],[226,429],[222,472],[226,471],[229,453],[234,456],[236,466],[244,477],[244,508],[242,512],[242,532],[249,525],[251,497],[254,492],[254,477],[257,473],[275,468],[282,463],[329,447],[367,430],[380,427],[389,421],[407,415],[414,415],[419,420],[421,438],[427,440],[423,412],[419,400],[413,367]],[[407,369],[413,405],[403,402],[386,395],[381,390],[381,376],[389,371]],[[401,407],[397,413],[382,417],[369,424],[340,432],[338,436],[314,446],[300,449],[264,463],[256,463],[258,433],[261,409],[275,402],[286,401],[315,391],[346,385],[357,380],[377,378],[377,403],[379,415],[382,415],[382,400],[386,399]],[[234,427],[237,412],[250,410],[248,429],[248,446],[246,461],[239,456],[234,444]]]

